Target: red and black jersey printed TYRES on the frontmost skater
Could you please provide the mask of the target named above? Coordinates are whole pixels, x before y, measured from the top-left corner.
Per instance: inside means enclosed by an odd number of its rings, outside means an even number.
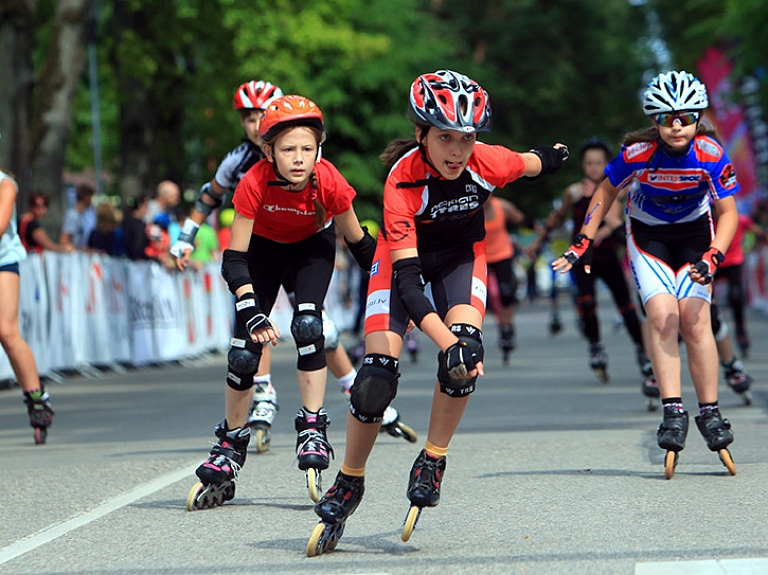
[[[481,241],[483,203],[524,171],[517,152],[478,142],[461,175],[445,180],[414,148],[392,167],[384,185],[384,233],[390,249],[436,252]]]

